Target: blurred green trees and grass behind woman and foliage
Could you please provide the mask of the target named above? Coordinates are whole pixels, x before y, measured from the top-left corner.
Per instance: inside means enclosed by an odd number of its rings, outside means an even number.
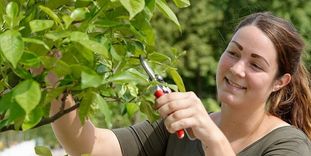
[[[171,5],[174,8],[174,5]],[[235,26],[243,17],[259,11],[273,14],[292,21],[306,43],[304,60],[311,69],[311,1],[308,0],[192,0],[185,9],[174,9],[182,26],[182,32],[163,16],[155,16],[158,51],[185,51],[180,59],[178,71],[187,91],[194,91],[208,111],[217,111],[215,73],[218,59],[229,42]],[[94,122],[101,123],[100,113]],[[135,121],[115,113],[114,126],[126,126]],[[5,132],[0,134],[0,150],[9,144],[38,138],[40,144],[54,148],[59,146],[50,125],[27,132]]]

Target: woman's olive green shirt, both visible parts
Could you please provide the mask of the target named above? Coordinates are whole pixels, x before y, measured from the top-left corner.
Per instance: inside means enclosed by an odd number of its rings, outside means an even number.
[[[124,156],[203,156],[201,142],[169,134],[163,121],[114,129]],[[238,156],[310,156],[308,137],[293,126],[277,128],[243,149]]]

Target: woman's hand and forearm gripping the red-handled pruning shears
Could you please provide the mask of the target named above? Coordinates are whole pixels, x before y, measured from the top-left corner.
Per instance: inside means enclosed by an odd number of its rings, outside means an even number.
[[[170,133],[191,128],[194,136],[201,140],[205,155],[235,155],[229,141],[194,93],[166,94],[157,99],[156,108]]]

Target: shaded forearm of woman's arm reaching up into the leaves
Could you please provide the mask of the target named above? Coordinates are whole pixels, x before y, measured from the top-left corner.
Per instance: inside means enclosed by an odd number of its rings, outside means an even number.
[[[73,106],[74,100],[69,95],[65,100],[65,109]],[[53,115],[60,109],[61,102],[54,100],[51,104]],[[52,123],[52,129],[58,141],[66,152],[70,155],[81,155],[81,153],[90,153],[94,144],[95,127],[90,121],[86,121],[82,126],[77,115],[77,111],[72,111]]]

